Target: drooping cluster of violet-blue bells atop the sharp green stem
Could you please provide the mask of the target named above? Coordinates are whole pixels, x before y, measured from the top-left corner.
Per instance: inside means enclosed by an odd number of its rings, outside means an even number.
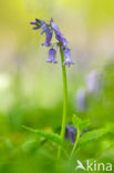
[[[30,22],[30,24],[33,24],[33,29],[38,30],[41,29],[41,34],[45,33],[45,41],[42,43],[43,47],[51,47],[49,50],[49,57],[46,59],[46,62],[54,62],[56,63],[55,54],[56,51],[53,49],[54,45],[61,44],[63,53],[64,53],[64,62],[63,65],[74,64],[74,62],[71,60],[71,53],[70,48],[68,48],[68,40],[62,34],[61,30],[56,26],[56,23],[53,22],[53,19],[50,20],[50,23],[46,23],[43,20],[35,19],[35,21]],[[56,43],[52,44],[52,35],[53,32],[55,34]]]

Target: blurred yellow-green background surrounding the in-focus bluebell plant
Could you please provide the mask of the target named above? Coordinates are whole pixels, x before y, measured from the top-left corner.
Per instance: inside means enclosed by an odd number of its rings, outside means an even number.
[[[44,149],[39,149],[39,138],[22,130],[22,125],[54,129],[62,119],[60,54],[58,64],[45,63],[48,49],[41,47],[44,35],[41,37],[40,31],[33,31],[30,26],[35,18],[45,21],[53,18],[68,38],[72,60],[75,61],[75,65],[68,68],[68,122],[73,112],[82,119],[90,119],[91,129],[114,121],[114,1],[1,0],[0,172],[73,170],[64,161],[56,164]],[[102,72],[103,88],[95,99],[89,99],[89,109],[80,113],[75,109],[75,94],[85,86],[86,75],[92,70]],[[102,153],[103,160],[112,161],[112,139],[108,135],[100,143],[86,145],[79,156],[93,159]],[[53,149],[50,150],[54,154]]]

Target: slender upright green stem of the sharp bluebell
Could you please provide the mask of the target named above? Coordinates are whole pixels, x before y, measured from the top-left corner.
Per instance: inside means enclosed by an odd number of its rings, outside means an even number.
[[[64,134],[65,134],[65,122],[66,122],[66,109],[68,109],[68,86],[66,86],[66,70],[65,65],[63,65],[64,62],[64,53],[62,50],[62,45],[60,47],[60,54],[61,54],[61,63],[62,63],[62,75],[63,75],[63,118],[62,118],[62,128],[61,128],[61,139],[64,141]],[[62,147],[59,146],[58,156],[61,156]]]

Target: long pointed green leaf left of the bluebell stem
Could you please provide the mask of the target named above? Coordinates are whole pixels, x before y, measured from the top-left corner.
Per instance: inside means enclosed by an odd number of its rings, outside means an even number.
[[[24,125],[22,128],[30,131],[30,132],[32,132],[32,133],[35,133],[35,134],[38,134],[40,136],[43,136],[43,138],[45,138],[48,140],[51,140],[51,141],[55,142],[55,143],[58,143],[60,145],[62,144],[62,140],[61,140],[60,135],[58,135],[58,134],[55,134],[53,132],[43,131],[43,130],[34,130],[32,128],[24,126]]]

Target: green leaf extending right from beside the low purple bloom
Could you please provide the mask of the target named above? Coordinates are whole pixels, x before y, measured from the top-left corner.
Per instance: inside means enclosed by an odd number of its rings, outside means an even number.
[[[93,130],[91,132],[84,133],[83,138],[80,139],[79,145],[83,146],[86,143],[96,140],[99,138],[102,138],[104,134],[106,134],[108,131],[105,129],[99,129],[99,130]]]

